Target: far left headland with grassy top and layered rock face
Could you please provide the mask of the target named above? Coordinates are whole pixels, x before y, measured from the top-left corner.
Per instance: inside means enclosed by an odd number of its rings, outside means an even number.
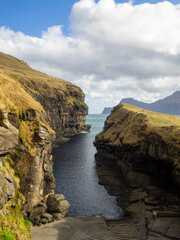
[[[79,87],[35,71],[23,61],[1,52],[0,69],[41,104],[46,121],[57,135],[73,135],[89,129],[85,123],[88,107]]]

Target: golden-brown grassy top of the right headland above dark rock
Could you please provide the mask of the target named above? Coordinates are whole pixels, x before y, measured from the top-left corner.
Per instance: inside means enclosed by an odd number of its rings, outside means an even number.
[[[158,134],[167,143],[180,148],[180,118],[151,112],[129,104],[119,104],[106,120],[104,130],[97,135],[110,145],[137,145],[144,136]]]

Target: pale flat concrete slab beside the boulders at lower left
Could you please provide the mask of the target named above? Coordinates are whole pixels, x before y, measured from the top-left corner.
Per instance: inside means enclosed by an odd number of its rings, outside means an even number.
[[[80,240],[107,230],[103,217],[67,217],[31,230],[32,240]]]

